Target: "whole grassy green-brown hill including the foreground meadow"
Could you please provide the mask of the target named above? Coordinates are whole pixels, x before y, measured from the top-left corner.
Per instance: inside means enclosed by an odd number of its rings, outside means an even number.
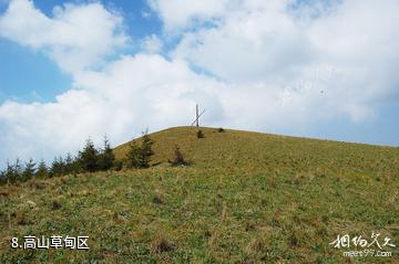
[[[398,148],[203,130],[151,134],[149,169],[0,187],[0,263],[398,263]],[[175,145],[191,166],[168,165]],[[329,244],[372,232],[391,257]],[[90,250],[10,249],[53,234],[89,235]]]

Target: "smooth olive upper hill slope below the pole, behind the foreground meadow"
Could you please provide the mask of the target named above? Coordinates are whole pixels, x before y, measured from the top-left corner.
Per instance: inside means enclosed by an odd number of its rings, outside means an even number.
[[[167,163],[174,146],[197,168],[265,171],[293,169],[295,172],[396,173],[399,149],[364,144],[338,142],[241,130],[218,133],[202,128],[205,138],[196,138],[195,127],[174,127],[151,135],[155,155],[152,163]],[[140,139],[139,139],[140,140]],[[114,152],[124,159],[130,142]],[[310,171],[309,171],[310,170]]]

